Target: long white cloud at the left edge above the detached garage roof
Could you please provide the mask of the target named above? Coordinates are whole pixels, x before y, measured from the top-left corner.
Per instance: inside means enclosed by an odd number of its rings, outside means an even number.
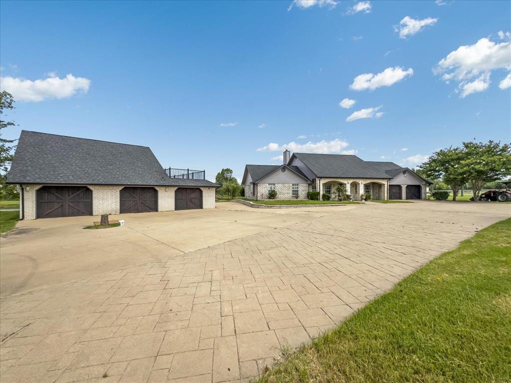
[[[90,80],[68,74],[43,80],[0,77],[0,87],[11,93],[16,101],[39,102],[45,99],[65,99],[77,93],[87,93]]]

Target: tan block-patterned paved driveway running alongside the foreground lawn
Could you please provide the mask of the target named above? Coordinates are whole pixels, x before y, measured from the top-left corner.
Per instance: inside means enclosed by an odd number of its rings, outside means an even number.
[[[434,256],[508,218],[510,209],[424,201],[316,211],[307,220],[4,298],[2,382],[248,381],[284,345],[336,326]],[[288,214],[297,212],[271,217]],[[108,246],[98,251],[108,258]]]

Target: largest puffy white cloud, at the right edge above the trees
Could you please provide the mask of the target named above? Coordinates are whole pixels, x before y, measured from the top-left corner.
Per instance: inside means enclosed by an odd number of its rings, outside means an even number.
[[[473,45],[462,45],[449,53],[433,68],[433,73],[443,74],[442,79],[447,84],[451,80],[457,81],[461,97],[466,97],[486,90],[495,69],[511,70],[511,42],[496,43],[484,37]]]

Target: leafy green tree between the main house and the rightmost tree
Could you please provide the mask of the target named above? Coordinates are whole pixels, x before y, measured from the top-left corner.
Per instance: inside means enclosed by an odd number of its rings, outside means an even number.
[[[442,179],[452,189],[452,200],[456,201],[459,189],[468,180],[461,168],[463,156],[463,150],[459,148],[440,149],[419,166],[421,176]]]

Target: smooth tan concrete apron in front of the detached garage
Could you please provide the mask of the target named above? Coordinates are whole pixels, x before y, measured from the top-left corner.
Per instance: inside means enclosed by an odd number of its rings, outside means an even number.
[[[310,221],[352,206],[253,209],[219,203],[215,210],[121,214],[126,226],[83,230],[98,217],[21,221],[2,236],[0,297],[41,286],[89,278],[109,271],[162,261],[292,223]]]

